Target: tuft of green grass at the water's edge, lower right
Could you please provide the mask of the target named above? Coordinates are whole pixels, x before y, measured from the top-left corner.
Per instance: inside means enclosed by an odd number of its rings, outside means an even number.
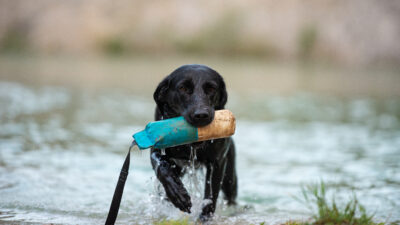
[[[373,221],[373,214],[367,213],[355,195],[344,205],[336,203],[335,198],[328,201],[324,182],[302,188],[303,202],[313,211],[311,222],[289,221],[285,225],[383,225]]]

